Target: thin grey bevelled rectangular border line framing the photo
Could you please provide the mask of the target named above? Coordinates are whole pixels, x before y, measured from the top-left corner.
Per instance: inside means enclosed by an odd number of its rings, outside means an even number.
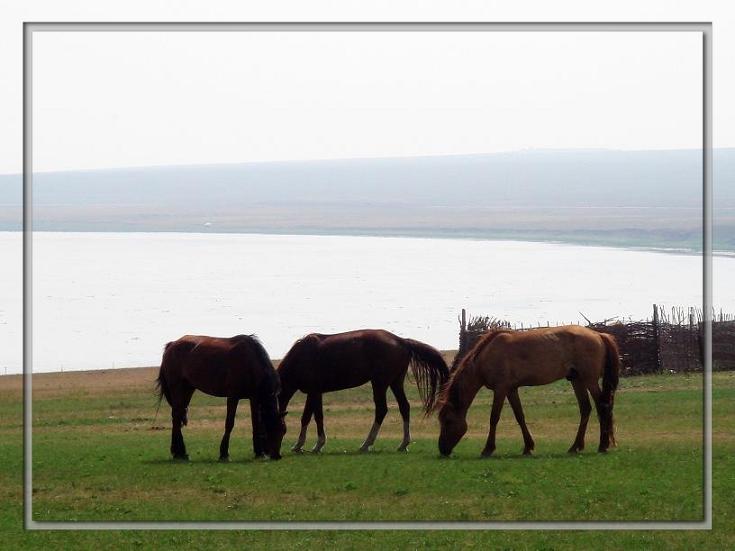
[[[33,34],[37,32],[697,32],[702,34],[704,518],[698,521],[36,521],[32,509]],[[712,23],[711,22],[24,22],[23,519],[27,530],[711,530]]]

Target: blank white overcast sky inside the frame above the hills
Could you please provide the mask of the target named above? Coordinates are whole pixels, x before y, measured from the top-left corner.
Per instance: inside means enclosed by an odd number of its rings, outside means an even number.
[[[702,145],[695,32],[54,32],[33,53],[39,171]]]

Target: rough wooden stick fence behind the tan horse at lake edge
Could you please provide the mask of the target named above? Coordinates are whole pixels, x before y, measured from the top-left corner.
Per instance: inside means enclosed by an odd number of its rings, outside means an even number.
[[[712,320],[712,368],[733,370],[735,317],[720,311],[713,312]],[[455,364],[488,330],[532,329],[511,326],[506,321],[489,316],[474,316],[467,320],[464,310],[459,322],[459,351]],[[697,308],[675,307],[665,310],[654,304],[651,319],[628,322],[609,319],[590,322],[587,327],[615,337],[620,347],[622,375],[702,370],[704,321],[702,311]]]

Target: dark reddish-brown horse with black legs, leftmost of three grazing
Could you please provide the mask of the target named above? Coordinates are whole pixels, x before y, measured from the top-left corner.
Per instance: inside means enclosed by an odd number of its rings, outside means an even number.
[[[250,399],[253,448],[256,456],[280,459],[286,433],[284,414],[278,408],[280,383],[268,353],[254,335],[231,338],[186,335],[166,345],[158,373],[158,400],[171,406],[171,454],[188,459],[181,427],[187,423],[189,401],[195,390],[227,398],[225,433],[220,460],[229,458],[230,433],[237,404]]]

